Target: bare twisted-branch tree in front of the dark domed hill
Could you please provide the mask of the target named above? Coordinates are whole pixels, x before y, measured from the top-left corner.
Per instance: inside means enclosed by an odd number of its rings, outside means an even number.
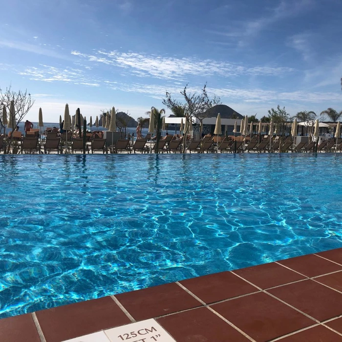
[[[183,153],[186,151],[186,137],[190,127],[190,120],[192,118],[197,118],[200,123],[200,130],[203,126],[203,120],[211,114],[211,108],[214,105],[221,103],[221,100],[218,96],[214,96],[213,99],[210,99],[207,93],[207,84],[204,85],[203,89],[200,93],[189,93],[188,92],[188,84],[184,87],[184,89],[180,92],[184,98],[184,103],[172,99],[171,93],[166,92],[166,97],[163,99],[163,104],[172,110],[175,108],[184,108],[185,120],[188,122],[187,130],[184,132],[183,136]],[[173,111],[173,110],[172,110]]]

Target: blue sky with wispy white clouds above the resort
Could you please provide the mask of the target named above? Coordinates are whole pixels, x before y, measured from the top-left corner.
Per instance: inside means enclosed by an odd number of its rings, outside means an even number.
[[[341,0],[11,0],[1,4],[0,86],[57,121],[115,106],[134,118],[206,82],[241,114],[342,109]],[[167,111],[167,114],[170,111]]]

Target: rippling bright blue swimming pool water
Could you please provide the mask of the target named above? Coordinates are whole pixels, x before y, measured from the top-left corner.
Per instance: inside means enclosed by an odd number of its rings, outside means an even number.
[[[342,247],[342,154],[0,156],[0,317]]]

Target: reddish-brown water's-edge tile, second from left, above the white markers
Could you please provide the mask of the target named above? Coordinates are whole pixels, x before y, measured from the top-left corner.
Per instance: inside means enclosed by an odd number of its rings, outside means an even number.
[[[131,321],[110,297],[36,312],[46,342],[60,342]]]

